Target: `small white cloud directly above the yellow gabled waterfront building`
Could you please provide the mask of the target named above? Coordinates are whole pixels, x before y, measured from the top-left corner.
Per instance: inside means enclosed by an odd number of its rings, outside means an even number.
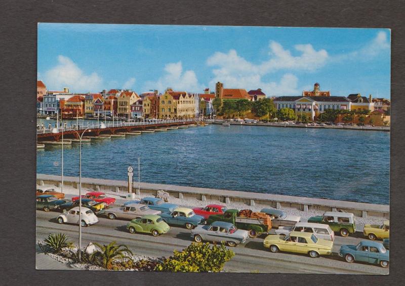
[[[157,81],[147,81],[144,89],[158,89],[164,91],[167,87],[172,87],[174,90],[198,91],[204,87],[198,83],[197,76],[194,71],[187,70],[183,72],[181,62],[169,63],[165,65],[165,74]]]

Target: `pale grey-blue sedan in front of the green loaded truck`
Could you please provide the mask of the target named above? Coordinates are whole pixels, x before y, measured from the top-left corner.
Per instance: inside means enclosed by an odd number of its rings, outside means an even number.
[[[191,237],[195,242],[225,242],[228,246],[246,243],[249,238],[247,230],[237,229],[232,223],[215,221],[211,225],[197,225],[191,230]]]

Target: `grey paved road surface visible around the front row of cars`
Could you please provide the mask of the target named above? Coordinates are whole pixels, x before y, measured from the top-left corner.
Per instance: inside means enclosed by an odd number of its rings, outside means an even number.
[[[36,236],[44,239],[49,233],[66,233],[77,244],[78,226],[58,224],[57,212],[36,211]],[[161,236],[131,234],[126,229],[126,220],[109,220],[100,217],[95,225],[82,228],[83,246],[89,242],[107,244],[116,241],[126,244],[134,253],[153,257],[170,256],[173,250],[181,250],[191,243],[190,231],[172,227]],[[263,247],[263,237],[250,239],[245,245],[232,248],[234,258],[226,264],[229,272],[261,273],[342,273],[342,274],[388,274],[389,270],[379,266],[344,262],[336,252],[342,244],[357,244],[361,237],[336,237],[333,251],[329,257],[310,258],[306,255],[271,253]]]

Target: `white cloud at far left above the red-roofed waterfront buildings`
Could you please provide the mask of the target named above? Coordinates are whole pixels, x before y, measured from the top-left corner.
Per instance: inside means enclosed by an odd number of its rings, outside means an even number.
[[[57,66],[45,74],[45,82],[49,89],[69,87],[73,92],[87,92],[102,88],[102,79],[97,73],[85,74],[71,59],[65,56],[58,56],[58,62]]]

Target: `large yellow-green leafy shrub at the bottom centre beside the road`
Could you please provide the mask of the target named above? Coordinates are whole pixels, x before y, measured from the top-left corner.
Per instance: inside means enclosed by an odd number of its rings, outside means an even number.
[[[235,253],[221,246],[210,246],[209,243],[192,243],[182,251],[174,254],[159,263],[155,271],[169,272],[220,272],[225,262],[229,261]]]

